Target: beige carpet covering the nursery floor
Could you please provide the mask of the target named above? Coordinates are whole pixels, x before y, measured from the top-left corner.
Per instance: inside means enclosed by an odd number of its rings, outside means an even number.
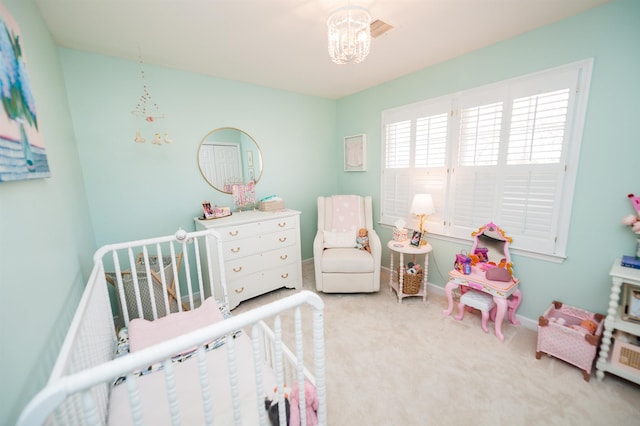
[[[303,264],[303,275],[315,291],[313,264]],[[443,316],[444,296],[398,304],[387,283],[383,271],[379,293],[320,294],[330,425],[640,425],[639,385],[609,374],[598,382],[595,369],[585,382],[570,364],[536,360],[535,331],[505,323],[500,342],[482,331],[478,314]]]

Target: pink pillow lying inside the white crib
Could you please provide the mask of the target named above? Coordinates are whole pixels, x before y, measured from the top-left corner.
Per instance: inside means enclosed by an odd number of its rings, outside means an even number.
[[[174,312],[155,321],[136,318],[129,323],[129,351],[141,351],[222,320],[224,317],[213,297],[209,297],[194,310]],[[185,352],[193,349],[195,348]]]

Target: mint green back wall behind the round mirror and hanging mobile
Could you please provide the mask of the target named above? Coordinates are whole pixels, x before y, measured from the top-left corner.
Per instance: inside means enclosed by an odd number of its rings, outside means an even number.
[[[134,143],[131,111],[142,94],[140,64],[59,50],[98,246],[194,230],[204,200],[230,206],[198,168],[200,142],[236,127],[262,150],[262,198],[277,194],[303,212],[303,258],[311,257],[315,197],[336,191],[335,101],[144,65],[145,79],[173,143]],[[144,55],[144,52],[143,52]],[[163,126],[164,125],[164,126]]]

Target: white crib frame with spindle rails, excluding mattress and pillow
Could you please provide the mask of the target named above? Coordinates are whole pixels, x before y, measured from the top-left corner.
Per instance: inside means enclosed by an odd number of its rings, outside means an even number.
[[[180,302],[181,289],[187,291],[188,303],[190,308],[196,306],[197,296],[200,296],[200,302],[204,299],[205,285],[209,285],[208,289],[211,295],[217,296],[217,299],[228,306],[226,295],[224,263],[223,259],[216,259],[218,265],[214,267],[211,264],[212,250],[209,247],[209,238],[213,236],[213,240],[218,245],[218,253],[222,252],[222,243],[220,235],[215,230],[199,231],[186,233],[178,231],[173,236],[152,238],[140,240],[130,243],[121,243],[105,246],[99,249],[94,256],[94,269],[91,278],[87,284],[85,292],[76,315],[71,323],[67,337],[63,343],[58,360],[54,365],[51,377],[47,386],[40,391],[34,399],[25,407],[18,425],[41,425],[41,424],[88,424],[102,425],[106,423],[107,407],[109,404],[109,394],[114,379],[126,376],[129,400],[131,404],[132,416],[134,424],[142,424],[140,419],[140,401],[137,396],[136,381],[139,380],[132,372],[142,369],[148,365],[163,362],[164,375],[167,384],[168,404],[171,412],[171,421],[173,424],[180,423],[180,413],[178,411],[178,395],[175,389],[175,381],[173,377],[173,368],[170,358],[176,353],[181,353],[187,348],[199,347],[196,355],[200,361],[196,361],[200,365],[201,377],[206,374],[206,366],[202,361],[204,359],[204,344],[211,342],[222,336],[227,336],[226,351],[229,359],[234,359],[234,344],[231,338],[232,334],[240,329],[251,331],[251,341],[253,347],[253,361],[256,372],[256,404],[258,407],[260,425],[267,425],[268,420],[264,412],[264,394],[262,366],[265,360],[267,365],[273,368],[278,387],[278,400],[280,401],[280,424],[285,424],[283,389],[285,383],[291,385],[294,382],[298,384],[300,404],[300,417],[303,424],[306,423],[305,410],[305,394],[304,380],[310,380],[316,387],[317,397],[319,401],[318,421],[320,425],[326,425],[326,385],[325,385],[325,365],[324,365],[324,325],[323,325],[323,309],[322,300],[315,293],[302,291],[283,298],[276,302],[263,305],[251,311],[232,316],[225,321],[218,322],[211,326],[201,328],[194,332],[182,335],[180,337],[168,340],[166,342],[154,345],[147,349],[130,353],[127,356],[113,359],[116,339],[115,327],[109,303],[109,295],[106,291],[107,283],[105,280],[105,261],[110,259],[112,264],[109,267],[115,269],[117,277],[117,291],[120,291],[121,300],[126,300],[123,291],[123,282],[121,272],[125,269],[122,267],[122,257],[116,255],[119,251],[124,251],[124,256],[129,267],[135,268],[136,256],[142,256],[142,263],[145,269],[140,274],[146,274],[148,278],[149,293],[153,298],[154,288],[151,284],[150,259],[151,256],[158,256],[162,259],[165,253],[171,256],[171,269],[175,277],[175,292],[178,296],[177,309],[181,310]],[[193,248],[193,249],[191,249]],[[177,250],[176,250],[177,249]],[[168,251],[167,251],[168,250]],[[175,262],[176,253],[181,252],[183,255],[184,269],[183,274],[179,274],[178,266]],[[206,254],[202,256],[202,254]],[[111,255],[111,256],[109,256]],[[138,258],[140,259],[140,258]],[[160,261],[160,271],[168,268]],[[203,264],[203,261],[205,262]],[[108,263],[108,262],[107,262]],[[139,262],[138,262],[139,264]],[[195,265],[195,269],[194,269]],[[126,268],[126,266],[125,266]],[[216,273],[221,283],[224,294],[215,294],[213,274]],[[137,273],[132,274],[135,290],[135,298],[137,312],[142,313],[142,302],[139,282],[137,281]],[[169,308],[170,303],[167,296],[167,279],[164,274],[161,275],[162,296],[164,297],[165,308]],[[145,275],[142,275],[144,278]],[[184,277],[186,286],[180,285],[179,277]],[[195,278],[195,283],[192,280]],[[182,287],[182,288],[181,288]],[[196,290],[194,290],[194,288]],[[302,343],[302,320],[300,309],[302,306],[310,306],[313,314],[313,363],[314,375],[304,367],[303,343]],[[128,324],[129,312],[127,312],[127,303],[122,303],[121,308],[124,312],[125,324]],[[280,315],[286,311],[294,311],[295,318],[295,354],[287,349],[282,342],[281,319]],[[168,314],[169,309],[167,309]],[[160,312],[153,310],[153,319],[158,318]],[[266,319],[273,318],[273,331],[264,322]],[[219,348],[216,350],[225,350]],[[164,361],[163,361],[164,360]],[[234,362],[228,365],[229,377],[231,381],[231,393],[233,402],[233,418],[236,425],[242,424],[240,414],[240,403],[237,395],[237,376],[236,366]],[[163,374],[154,373],[154,374]],[[315,377],[314,377],[315,376]],[[203,409],[205,411],[204,418],[207,424],[214,424],[215,416],[210,399],[207,400],[209,390],[206,380],[201,380],[200,393],[204,397]],[[194,391],[197,391],[194,389]]]

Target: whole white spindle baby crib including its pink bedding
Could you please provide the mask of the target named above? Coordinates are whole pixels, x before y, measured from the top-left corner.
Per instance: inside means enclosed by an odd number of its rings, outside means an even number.
[[[291,406],[292,417],[295,411],[306,424],[309,386],[315,391],[311,418],[326,425],[322,300],[302,291],[231,315],[224,263],[211,259],[211,241],[221,245],[215,230],[178,231],[98,250],[49,382],[18,425],[268,425],[265,399],[277,402],[276,416],[288,424],[287,387],[295,394],[291,399],[299,400]],[[149,259],[161,259],[160,273],[151,273]],[[214,273],[223,294],[214,291]],[[114,285],[107,275],[115,277]],[[122,279],[127,276],[132,279]],[[155,300],[151,312],[143,308],[149,305],[145,297]],[[311,321],[305,327],[306,315]],[[283,326],[285,319],[291,324]],[[117,330],[116,324],[124,327]],[[305,343],[312,346],[310,354]],[[313,360],[315,374],[305,367],[304,355]]]

